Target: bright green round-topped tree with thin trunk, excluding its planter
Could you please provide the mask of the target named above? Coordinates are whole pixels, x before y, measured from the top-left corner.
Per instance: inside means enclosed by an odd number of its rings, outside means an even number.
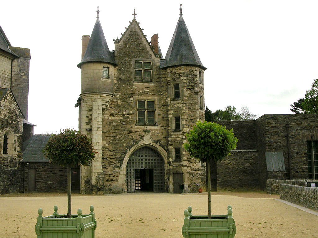
[[[238,139],[233,129],[227,130],[225,126],[215,122],[197,122],[196,126],[187,134],[188,142],[184,148],[194,158],[206,162],[208,179],[208,213],[211,219],[211,161],[218,162],[230,155],[236,149]]]

